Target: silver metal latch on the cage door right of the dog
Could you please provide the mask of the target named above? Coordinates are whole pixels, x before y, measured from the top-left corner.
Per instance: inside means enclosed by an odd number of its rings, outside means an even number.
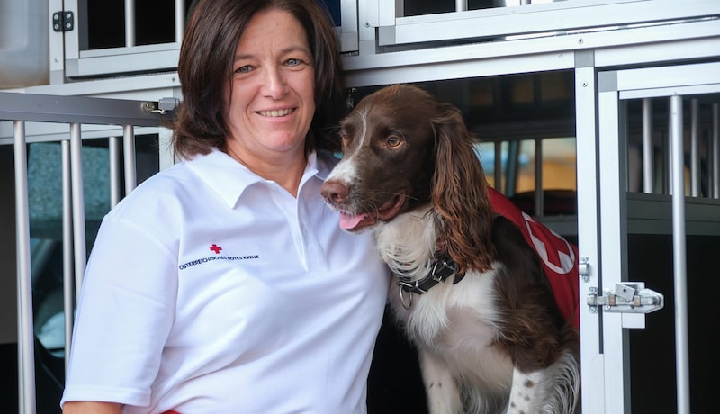
[[[606,312],[650,313],[665,306],[665,297],[646,289],[644,282],[623,282],[615,285],[615,291],[608,289],[603,295],[598,295],[598,289],[591,287],[588,306],[593,313],[599,307]]]

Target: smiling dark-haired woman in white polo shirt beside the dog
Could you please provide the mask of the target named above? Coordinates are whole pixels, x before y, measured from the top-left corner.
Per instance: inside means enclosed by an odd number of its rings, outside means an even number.
[[[103,220],[65,413],[363,413],[388,284],[320,197],[342,111],[315,0],[201,0],[178,75],[184,161]]]

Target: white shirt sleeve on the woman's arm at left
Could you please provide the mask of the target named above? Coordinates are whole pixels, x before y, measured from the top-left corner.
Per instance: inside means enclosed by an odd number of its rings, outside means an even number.
[[[61,404],[148,405],[176,293],[176,254],[151,230],[105,217],[85,269]]]

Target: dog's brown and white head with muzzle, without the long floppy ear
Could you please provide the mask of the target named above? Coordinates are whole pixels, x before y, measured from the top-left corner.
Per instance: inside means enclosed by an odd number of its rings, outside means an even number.
[[[430,202],[438,103],[416,87],[393,85],[366,96],[340,122],[343,159],[322,187],[357,231]]]

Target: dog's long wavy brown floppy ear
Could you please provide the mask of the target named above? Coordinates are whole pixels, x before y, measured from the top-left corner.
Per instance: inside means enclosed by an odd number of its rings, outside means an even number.
[[[438,109],[432,120],[436,139],[432,203],[443,219],[440,232],[458,274],[468,269],[482,272],[491,268],[495,257],[491,243],[494,214],[485,173],[462,112],[449,103],[438,103]]]

